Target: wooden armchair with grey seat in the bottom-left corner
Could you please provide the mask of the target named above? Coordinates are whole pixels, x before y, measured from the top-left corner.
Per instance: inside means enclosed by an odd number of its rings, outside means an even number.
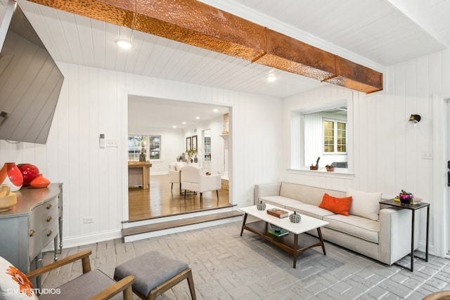
[[[56,287],[59,294],[41,294],[39,300],[46,299],[124,299],[132,300],[133,291],[131,285],[134,282],[134,276],[130,275],[116,282],[101,270],[91,270],[89,261],[91,250],[79,252],[72,256],[65,257],[51,263],[47,266],[32,270],[26,276],[29,279],[60,268],[81,259],[83,274],[66,282],[60,287]],[[121,294],[122,293],[122,294]]]

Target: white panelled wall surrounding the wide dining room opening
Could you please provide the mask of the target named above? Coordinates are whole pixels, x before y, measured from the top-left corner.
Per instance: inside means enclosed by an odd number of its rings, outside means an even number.
[[[252,203],[255,183],[279,180],[278,99],[93,67],[59,66],[65,81],[46,145],[0,141],[0,164],[36,164],[50,181],[64,183],[65,247],[120,237],[121,222],[128,218],[128,94],[231,107],[230,192],[238,206]],[[100,149],[100,133],[117,138],[119,147]],[[93,216],[94,223],[82,223],[84,216]]]

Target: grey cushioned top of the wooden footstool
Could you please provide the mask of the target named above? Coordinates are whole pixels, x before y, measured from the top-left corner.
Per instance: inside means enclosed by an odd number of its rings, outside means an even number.
[[[152,289],[158,287],[162,282],[169,280],[187,268],[187,263],[151,251],[117,266],[114,278],[120,280],[129,275],[134,275],[133,289],[141,294],[148,295]]]

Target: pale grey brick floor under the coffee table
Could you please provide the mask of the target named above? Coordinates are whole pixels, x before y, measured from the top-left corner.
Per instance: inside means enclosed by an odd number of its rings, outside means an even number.
[[[327,242],[326,256],[320,247],[309,249],[293,268],[292,258],[278,247],[248,231],[240,237],[240,226],[235,222],[129,243],[110,240],[63,249],[60,257],[91,249],[91,266],[112,277],[117,264],[157,250],[191,266],[198,299],[423,299],[450,289],[449,259],[416,259],[411,273]],[[46,253],[44,264],[52,259]],[[401,262],[408,263],[409,256]],[[57,287],[80,271],[79,263],[52,271],[43,287]],[[160,299],[191,299],[186,280]]]

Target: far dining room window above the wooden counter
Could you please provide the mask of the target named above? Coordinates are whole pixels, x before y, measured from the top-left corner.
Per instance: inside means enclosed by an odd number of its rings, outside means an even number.
[[[146,160],[160,159],[161,136],[128,136],[128,160],[138,161],[144,153]]]

